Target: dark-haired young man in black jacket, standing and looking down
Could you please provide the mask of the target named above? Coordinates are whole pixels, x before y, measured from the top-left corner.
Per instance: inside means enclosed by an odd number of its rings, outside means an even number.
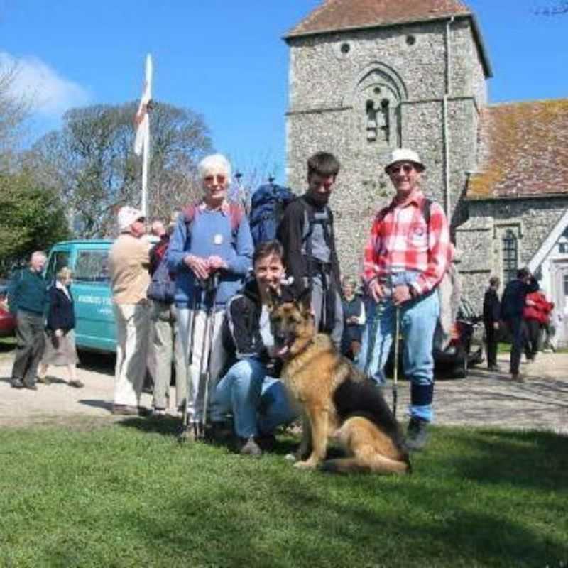
[[[286,271],[294,278],[294,293],[310,290],[316,329],[329,333],[337,349],[343,334],[341,276],[327,202],[339,167],[337,158],[327,152],[307,160],[307,191],[285,208],[277,231]]]

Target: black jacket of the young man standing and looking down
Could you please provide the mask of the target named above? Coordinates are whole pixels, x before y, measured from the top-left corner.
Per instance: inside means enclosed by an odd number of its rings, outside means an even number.
[[[318,209],[318,206],[311,202],[305,195],[298,197],[297,200],[290,203],[284,211],[277,231],[278,240],[284,248],[284,266],[286,267],[288,275],[294,277],[292,288],[295,295],[300,295],[304,291],[305,285],[303,278],[309,275],[307,258],[302,255],[302,245],[304,244],[306,234],[305,218],[308,207]],[[331,276],[334,279],[337,290],[341,290],[339,260],[337,259],[337,251],[335,250],[333,214],[329,207],[328,214],[331,225],[330,242],[328,243],[331,260]]]

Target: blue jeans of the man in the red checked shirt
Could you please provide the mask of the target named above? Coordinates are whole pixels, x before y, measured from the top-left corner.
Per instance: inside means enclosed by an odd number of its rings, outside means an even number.
[[[386,383],[384,366],[396,325],[396,307],[390,298],[379,304],[368,300],[366,326],[357,366],[379,385]],[[410,416],[432,422],[434,358],[432,342],[439,317],[437,291],[400,306],[400,334],[404,337],[403,367],[410,381]]]

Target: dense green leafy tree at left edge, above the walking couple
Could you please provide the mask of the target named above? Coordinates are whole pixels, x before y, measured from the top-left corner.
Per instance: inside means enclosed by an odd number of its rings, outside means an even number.
[[[0,274],[33,251],[67,239],[65,208],[55,190],[36,184],[29,172],[0,173]]]

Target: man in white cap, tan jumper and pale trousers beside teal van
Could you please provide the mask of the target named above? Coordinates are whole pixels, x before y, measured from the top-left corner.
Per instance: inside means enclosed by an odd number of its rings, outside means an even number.
[[[144,214],[121,207],[119,238],[109,251],[109,271],[116,319],[116,368],[113,414],[141,413],[140,395],[146,376],[150,312],[146,290],[150,284],[150,244]]]

